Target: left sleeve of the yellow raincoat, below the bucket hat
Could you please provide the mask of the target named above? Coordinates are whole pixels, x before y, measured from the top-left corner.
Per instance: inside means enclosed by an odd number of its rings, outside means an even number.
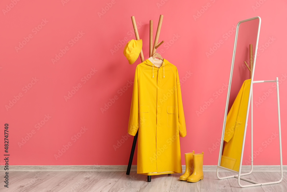
[[[139,129],[139,98],[138,98],[138,83],[137,83],[138,68],[135,69],[135,80],[133,82],[133,96],[131,98],[131,112],[129,114],[129,127],[127,132],[135,136]]]

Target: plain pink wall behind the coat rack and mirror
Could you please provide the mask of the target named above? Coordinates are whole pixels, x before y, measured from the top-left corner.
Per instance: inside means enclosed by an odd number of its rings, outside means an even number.
[[[177,66],[182,83],[187,125],[182,164],[184,153],[192,150],[205,152],[205,165],[217,164],[234,26],[253,16],[262,19],[254,80],[280,78],[286,137],[286,1],[142,2],[1,1],[0,125],[3,131],[9,123],[11,165],[128,163],[130,82],[140,63],[129,65],[123,55],[124,45],[135,39],[131,16],[147,59],[149,20],[155,35],[164,15],[159,52]],[[254,86],[254,102],[254,150],[262,149],[254,164],[279,164],[274,85]],[[111,106],[102,112],[106,104]],[[284,164],[286,147],[282,139]]]

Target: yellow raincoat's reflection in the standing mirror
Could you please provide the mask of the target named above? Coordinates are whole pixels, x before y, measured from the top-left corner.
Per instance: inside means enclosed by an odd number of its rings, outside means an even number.
[[[251,79],[247,79],[243,82],[226,117],[224,132],[225,146],[222,154],[225,157],[221,159],[220,165],[235,171],[239,171],[250,82]]]

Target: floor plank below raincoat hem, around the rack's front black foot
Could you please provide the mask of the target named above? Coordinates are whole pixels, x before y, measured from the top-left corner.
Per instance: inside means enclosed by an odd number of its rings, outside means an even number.
[[[174,174],[152,175],[152,181],[147,182],[148,177],[141,186],[140,192],[144,191],[170,191],[172,179]]]

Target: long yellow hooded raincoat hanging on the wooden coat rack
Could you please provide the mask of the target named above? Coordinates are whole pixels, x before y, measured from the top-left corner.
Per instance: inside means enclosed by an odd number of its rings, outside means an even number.
[[[177,67],[164,59],[137,65],[128,133],[138,134],[137,173],[181,173],[179,136],[186,135]],[[154,76],[154,77],[153,77]]]

